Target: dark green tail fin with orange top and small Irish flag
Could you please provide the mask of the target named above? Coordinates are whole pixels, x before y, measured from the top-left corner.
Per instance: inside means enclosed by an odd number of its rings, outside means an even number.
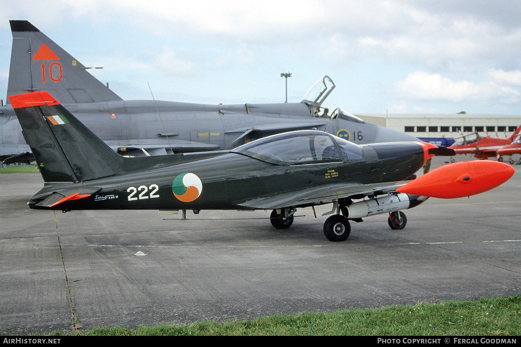
[[[123,171],[125,158],[47,92],[9,97],[45,182],[82,182]]]

